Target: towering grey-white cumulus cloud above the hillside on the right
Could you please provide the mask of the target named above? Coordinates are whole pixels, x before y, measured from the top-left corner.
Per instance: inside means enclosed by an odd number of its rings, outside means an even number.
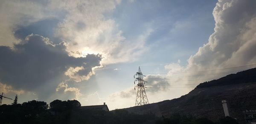
[[[173,86],[172,90],[161,88],[150,90],[148,88],[146,93],[150,94],[148,96],[149,99],[150,97],[153,99],[160,98],[158,101],[166,98],[172,99],[175,96],[177,97],[191,91],[193,88],[190,87],[194,85],[189,84],[199,84],[228,74],[218,74],[220,72],[255,67],[247,66],[229,70],[218,70],[219,68],[256,64],[256,1],[219,0],[212,14],[215,19],[214,33],[210,35],[207,44],[204,44],[198,49],[196,54],[189,57],[187,65],[183,66],[180,62],[172,63],[165,66],[165,69],[169,71],[166,75],[148,75],[145,78],[149,82],[155,82],[155,87],[174,84],[184,88],[175,88],[177,86]],[[154,81],[154,78],[157,80]],[[160,83],[162,81],[166,84]],[[129,93],[125,91],[117,93],[116,97],[121,96],[122,92],[125,94]],[[160,91],[164,92],[158,95],[157,92]],[[175,96],[170,96],[175,93],[177,93]]]

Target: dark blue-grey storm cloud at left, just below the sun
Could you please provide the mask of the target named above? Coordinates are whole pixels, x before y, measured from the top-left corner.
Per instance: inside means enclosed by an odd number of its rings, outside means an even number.
[[[56,88],[60,83],[56,81],[61,80],[58,78],[68,78],[64,73],[70,67],[84,68],[77,74],[87,76],[100,61],[99,54],[69,56],[65,42],[53,45],[48,38],[32,34],[13,48],[0,46],[0,82],[30,91],[47,83],[55,83]]]

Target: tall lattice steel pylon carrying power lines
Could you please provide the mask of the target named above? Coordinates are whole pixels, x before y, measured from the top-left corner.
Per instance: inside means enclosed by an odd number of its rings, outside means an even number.
[[[146,87],[144,87],[146,81],[144,81],[143,77],[144,77],[144,75],[142,74],[140,67],[139,67],[138,72],[134,75],[134,79],[135,79],[134,85],[135,85],[135,82],[137,82],[137,85],[134,87],[135,93],[136,93],[136,88],[137,88],[137,96],[136,96],[135,106],[149,104],[148,97],[145,92]]]

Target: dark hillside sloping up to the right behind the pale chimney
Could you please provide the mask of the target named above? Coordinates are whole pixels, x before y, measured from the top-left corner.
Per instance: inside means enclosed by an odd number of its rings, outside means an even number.
[[[131,113],[155,113],[169,116],[173,113],[206,117],[218,121],[224,117],[221,100],[229,102],[230,116],[245,124],[244,110],[256,109],[256,68],[204,82],[188,94],[142,107],[125,108]]]

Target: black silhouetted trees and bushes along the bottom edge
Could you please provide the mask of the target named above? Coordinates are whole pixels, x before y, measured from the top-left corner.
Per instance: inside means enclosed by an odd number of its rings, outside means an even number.
[[[84,110],[77,100],[28,101],[0,106],[0,124],[237,124],[233,118],[213,123],[207,118],[174,114],[156,117],[154,114],[136,115],[126,110]]]

